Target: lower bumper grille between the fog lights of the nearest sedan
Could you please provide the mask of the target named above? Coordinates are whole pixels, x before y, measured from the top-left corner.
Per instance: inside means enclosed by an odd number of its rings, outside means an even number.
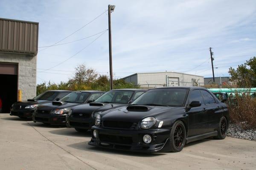
[[[114,135],[105,135],[99,134],[100,142],[110,142],[110,143],[117,143],[117,144],[131,144],[132,137],[130,136],[114,136]]]

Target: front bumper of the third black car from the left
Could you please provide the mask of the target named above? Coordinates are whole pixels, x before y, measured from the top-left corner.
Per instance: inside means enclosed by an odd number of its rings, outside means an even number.
[[[67,116],[66,118],[67,127],[75,127],[79,129],[90,129],[93,125],[95,120],[92,118],[82,118],[82,117],[73,117]]]

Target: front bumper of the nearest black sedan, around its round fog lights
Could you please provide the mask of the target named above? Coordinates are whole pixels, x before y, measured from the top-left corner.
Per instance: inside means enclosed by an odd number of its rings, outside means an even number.
[[[92,146],[145,153],[169,151],[171,129],[116,130],[93,126],[91,130]],[[97,130],[96,138],[93,130]],[[151,143],[143,142],[145,134],[151,136]]]

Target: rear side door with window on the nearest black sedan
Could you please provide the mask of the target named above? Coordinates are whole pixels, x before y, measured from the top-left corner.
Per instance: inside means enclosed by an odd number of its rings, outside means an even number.
[[[207,109],[207,115],[208,115],[208,130],[207,132],[212,132],[216,130],[219,124],[219,120],[221,118],[221,105],[214,99],[212,94],[210,94],[206,90],[201,90],[204,103],[206,105]]]

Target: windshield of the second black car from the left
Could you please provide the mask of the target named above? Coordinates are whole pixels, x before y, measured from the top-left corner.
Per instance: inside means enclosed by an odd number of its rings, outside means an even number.
[[[90,96],[90,93],[87,92],[73,92],[64,96],[59,101],[68,102],[68,103],[84,103],[86,99]]]

